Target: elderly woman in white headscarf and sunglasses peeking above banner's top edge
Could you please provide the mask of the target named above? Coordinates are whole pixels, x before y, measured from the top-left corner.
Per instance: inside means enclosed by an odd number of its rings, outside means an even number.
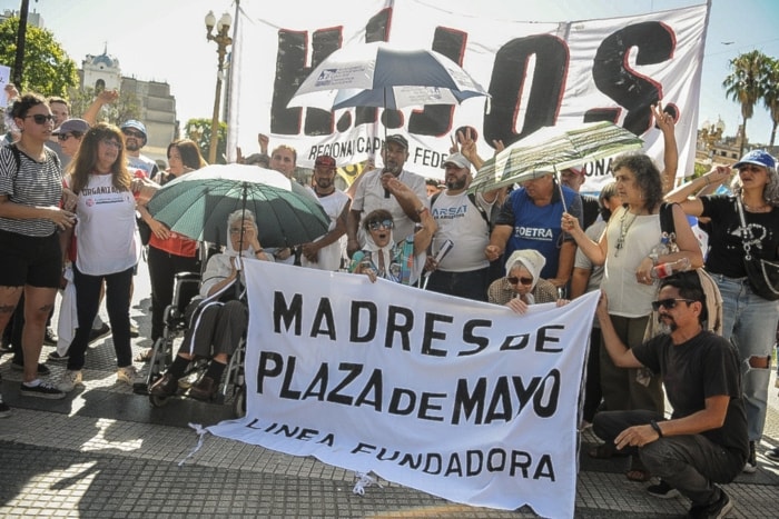
[[[546,259],[538,250],[515,250],[506,261],[506,277],[490,285],[487,300],[505,305],[516,313],[524,313],[530,305],[556,301],[556,287],[541,278],[544,265]]]

